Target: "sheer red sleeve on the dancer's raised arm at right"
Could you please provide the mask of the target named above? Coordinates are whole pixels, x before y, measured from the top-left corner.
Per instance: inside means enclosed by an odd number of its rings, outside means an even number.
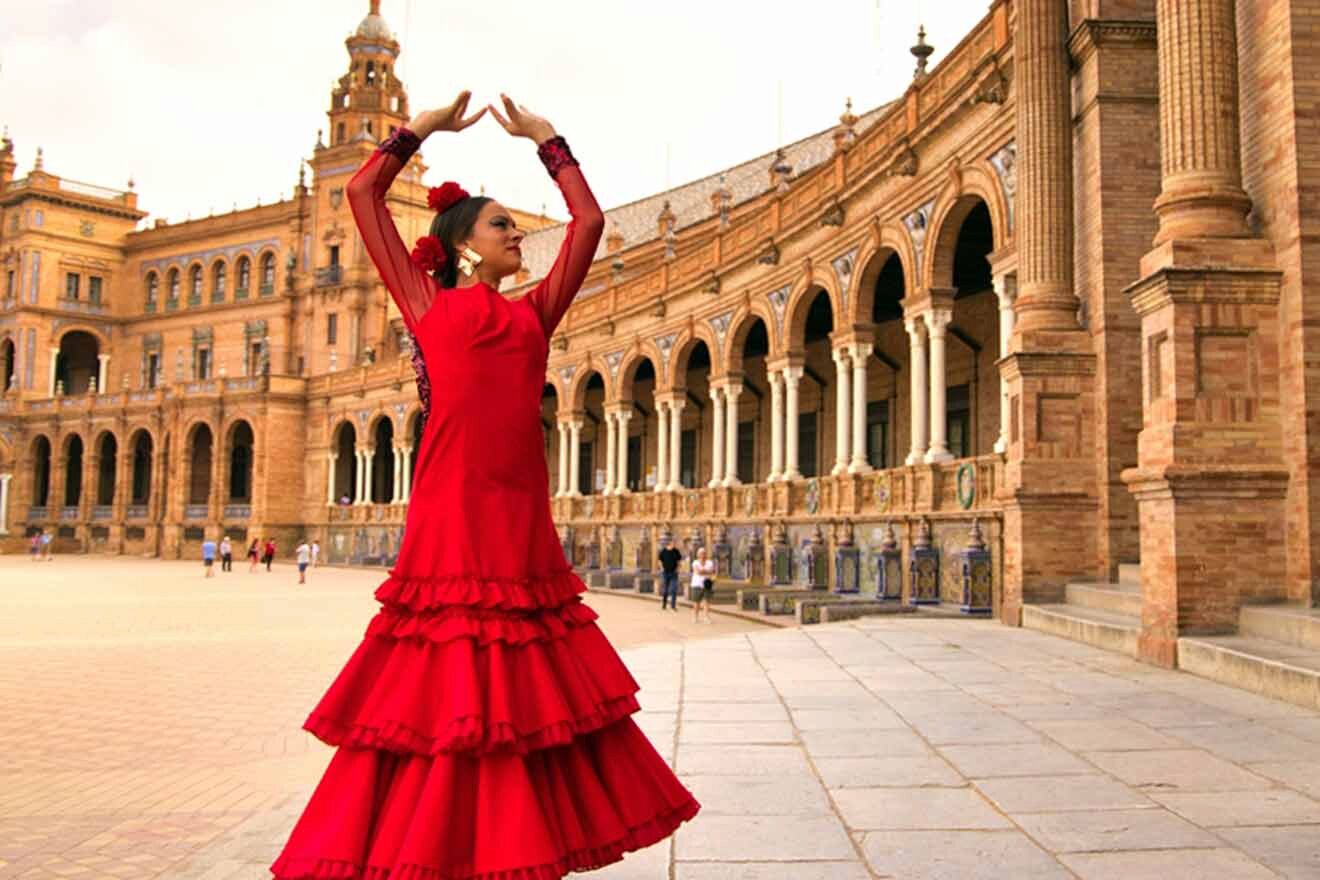
[[[572,218],[560,253],[554,257],[554,265],[527,294],[528,302],[541,319],[541,329],[550,336],[591,268],[595,245],[599,244],[601,231],[605,228],[605,215],[601,214],[601,206],[595,203],[595,197],[591,195],[586,178],[582,177],[582,170],[562,137],[545,141],[537,153],[545,162],[545,170],[564,193]]]

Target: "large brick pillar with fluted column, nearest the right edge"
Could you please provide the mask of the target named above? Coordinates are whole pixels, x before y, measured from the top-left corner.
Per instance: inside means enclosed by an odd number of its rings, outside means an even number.
[[[1241,187],[1232,0],[1160,0],[1160,228],[1127,289],[1142,319],[1138,467],[1143,660],[1233,632],[1243,602],[1284,598],[1279,286]]]

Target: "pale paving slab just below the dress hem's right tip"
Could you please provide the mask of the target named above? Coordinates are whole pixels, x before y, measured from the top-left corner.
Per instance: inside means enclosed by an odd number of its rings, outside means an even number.
[[[847,862],[854,855],[833,817],[710,815],[675,835],[680,862]]]

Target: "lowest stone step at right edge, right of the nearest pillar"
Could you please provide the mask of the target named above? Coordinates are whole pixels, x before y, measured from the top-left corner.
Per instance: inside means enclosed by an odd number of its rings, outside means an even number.
[[[1257,636],[1184,636],[1177,665],[1193,676],[1320,708],[1320,650]]]

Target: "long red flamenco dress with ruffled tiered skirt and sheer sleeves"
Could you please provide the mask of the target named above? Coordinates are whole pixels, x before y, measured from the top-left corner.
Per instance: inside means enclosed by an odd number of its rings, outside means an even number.
[[[425,413],[380,612],[305,724],[337,752],[272,865],[282,880],[558,880],[618,862],[698,803],[630,718],[638,685],[581,600],[550,519],[540,422],[548,339],[603,218],[562,139],[540,156],[573,220],[510,301],[417,268],[385,191],[403,129],[348,185],[416,343]],[[429,412],[428,412],[429,396]]]

